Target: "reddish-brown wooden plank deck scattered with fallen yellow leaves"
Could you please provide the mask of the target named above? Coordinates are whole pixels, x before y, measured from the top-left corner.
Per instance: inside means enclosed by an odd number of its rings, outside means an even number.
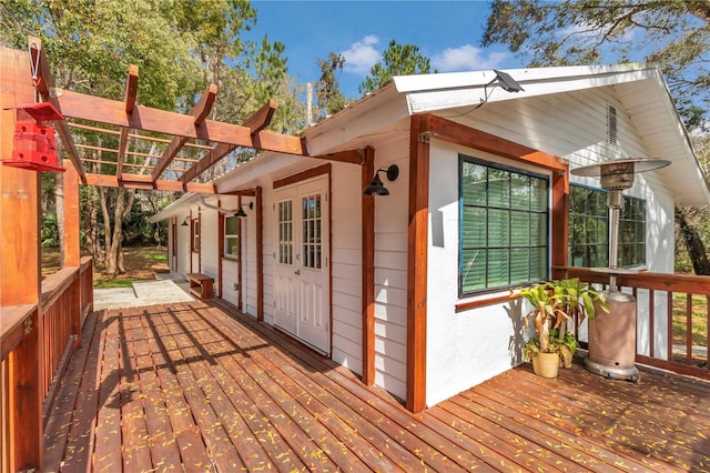
[[[84,333],[43,471],[710,471],[710,383],[686,378],[525,365],[412,415],[219,300],[97,312]]]

